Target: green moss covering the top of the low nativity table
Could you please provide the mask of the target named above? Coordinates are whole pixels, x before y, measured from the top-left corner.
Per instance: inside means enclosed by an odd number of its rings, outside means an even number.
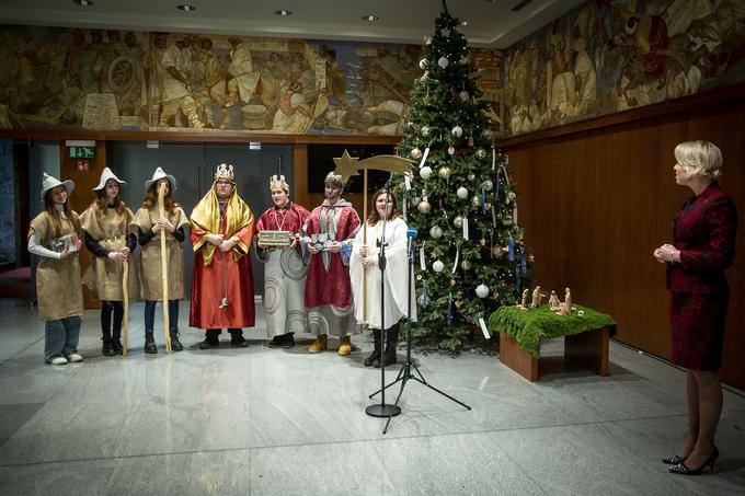
[[[608,327],[610,336],[616,335],[616,321],[607,313],[578,304],[574,308],[585,314],[580,316],[577,312],[572,312],[570,315],[557,315],[548,304],[528,308],[527,311],[517,307],[501,307],[489,318],[489,331],[513,337],[522,349],[535,358],[540,358],[541,339],[571,336],[603,327]]]

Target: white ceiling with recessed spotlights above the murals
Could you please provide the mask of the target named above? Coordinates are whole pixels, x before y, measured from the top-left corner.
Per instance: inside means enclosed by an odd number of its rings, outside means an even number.
[[[472,46],[506,48],[585,0],[450,0]],[[1,0],[0,23],[421,44],[442,0]],[[176,4],[190,3],[193,12]],[[286,9],[291,15],[274,12]],[[363,21],[375,14],[376,22]]]

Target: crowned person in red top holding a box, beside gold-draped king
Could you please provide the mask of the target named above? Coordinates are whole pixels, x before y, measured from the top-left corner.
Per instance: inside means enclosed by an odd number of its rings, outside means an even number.
[[[264,310],[270,348],[295,346],[295,333],[308,332],[306,272],[298,233],[310,212],[290,201],[285,176],[270,178],[274,206],[256,223],[256,257],[264,267]]]

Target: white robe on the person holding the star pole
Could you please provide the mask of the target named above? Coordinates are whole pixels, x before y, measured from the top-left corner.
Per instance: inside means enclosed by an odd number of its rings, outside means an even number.
[[[375,265],[367,268],[367,308],[363,311],[363,264],[359,256],[359,245],[364,244],[365,228],[359,229],[355,237],[352,258],[349,261],[349,279],[352,280],[352,293],[355,301],[355,318],[359,324],[368,324],[373,328],[380,326],[380,269],[377,258],[379,249],[376,241],[382,232],[382,221],[367,228],[367,253],[376,258]],[[416,300],[414,291],[414,275],[412,274],[411,293],[406,284],[409,266],[406,261],[406,223],[401,218],[396,218],[386,223],[386,270],[385,270],[385,326],[396,324],[406,315],[409,301],[411,301],[411,319],[416,321]],[[391,281],[393,282],[391,285]],[[409,299],[406,298],[409,295]],[[366,314],[364,314],[366,313]]]

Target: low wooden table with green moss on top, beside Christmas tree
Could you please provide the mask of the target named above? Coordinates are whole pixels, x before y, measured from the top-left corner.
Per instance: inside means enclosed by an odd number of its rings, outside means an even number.
[[[540,378],[540,343],[546,338],[564,338],[564,358],[608,376],[608,338],[616,334],[610,315],[577,305],[580,316],[557,315],[547,305],[523,311],[502,307],[489,319],[489,327],[500,333],[500,361],[536,382]]]

